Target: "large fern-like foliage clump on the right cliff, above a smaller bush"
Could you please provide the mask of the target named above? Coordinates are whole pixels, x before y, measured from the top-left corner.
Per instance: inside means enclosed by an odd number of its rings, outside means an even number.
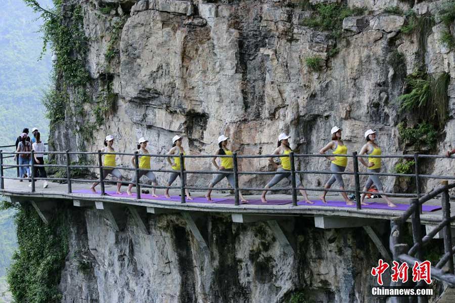
[[[416,70],[405,79],[410,93],[398,97],[401,110],[413,112],[428,122],[442,128],[448,118],[447,88],[450,82],[448,73],[441,73],[437,78]]]

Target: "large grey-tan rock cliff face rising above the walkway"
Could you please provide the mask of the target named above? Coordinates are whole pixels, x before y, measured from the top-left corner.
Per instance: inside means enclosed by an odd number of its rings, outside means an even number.
[[[400,121],[410,126],[418,122],[412,113],[399,111],[404,77],[415,68],[435,77],[441,72],[455,76],[453,52],[440,42],[447,29],[438,18],[426,31],[401,32],[411,22],[403,16],[411,9],[407,2],[348,1],[363,11],[334,29],[338,37],[307,26],[317,14],[305,1],[68,3],[82,7],[88,41],[84,62],[90,74],[86,89],[94,101],[84,105],[84,117],[67,111],[64,121],[52,125],[56,150],[76,150],[81,143],[97,150],[104,136],[113,134],[119,151],[132,151],[136,139],[144,136],[153,153],[164,153],[175,134],[185,134],[189,153],[210,154],[217,149],[218,135],[225,134],[240,153],[267,154],[278,134],[286,132],[296,151],[314,153],[338,125],[349,153],[365,143],[363,133],[369,128],[378,129],[383,153],[413,152],[403,147],[397,131]],[[390,7],[398,13],[390,13]],[[440,2],[423,2],[412,11],[417,18],[436,16],[439,7]],[[314,58],[316,63],[308,63]],[[453,89],[448,88],[450,119],[432,152],[448,149],[455,139]],[[93,122],[95,105],[106,90],[112,108],[90,134],[94,140],[82,142],[75,121]],[[121,161],[129,163],[126,157]],[[165,166],[162,159],[155,163]],[[384,161],[384,167],[391,171],[396,163]],[[266,159],[240,163],[244,170],[264,170],[266,165]],[[448,165],[429,162],[425,170],[438,173]],[[207,169],[210,163],[195,159],[188,166]],[[297,166],[327,169],[328,162],[299,159]],[[165,178],[158,176],[160,183]],[[191,176],[189,182],[206,185],[208,178]],[[240,182],[263,186],[266,179],[244,176]],[[303,176],[303,181],[321,186],[325,176]],[[387,179],[389,189],[393,182]]]

